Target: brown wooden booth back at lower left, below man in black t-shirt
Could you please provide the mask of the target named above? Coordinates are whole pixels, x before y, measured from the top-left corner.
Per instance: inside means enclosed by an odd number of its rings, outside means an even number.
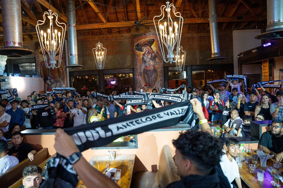
[[[40,151],[36,152],[34,160],[30,161],[29,158],[26,158],[16,166],[12,167],[5,173],[0,175],[1,187],[9,187],[14,182],[19,180],[23,176],[23,169],[30,165],[39,165],[48,158],[48,149],[43,148]]]

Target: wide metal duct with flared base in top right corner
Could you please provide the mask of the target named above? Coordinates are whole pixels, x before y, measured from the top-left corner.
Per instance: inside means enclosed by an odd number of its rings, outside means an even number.
[[[283,0],[267,0],[266,32],[254,38],[262,40],[283,38]]]

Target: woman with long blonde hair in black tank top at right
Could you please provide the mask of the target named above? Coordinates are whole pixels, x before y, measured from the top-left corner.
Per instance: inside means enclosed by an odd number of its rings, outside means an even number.
[[[272,116],[270,115],[270,105],[270,97],[267,94],[263,94],[260,102],[254,110],[254,117],[256,117],[258,114],[263,114],[265,116],[265,120],[272,120]]]

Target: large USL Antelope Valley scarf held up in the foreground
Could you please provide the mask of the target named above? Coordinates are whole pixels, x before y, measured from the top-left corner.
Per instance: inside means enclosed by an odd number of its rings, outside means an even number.
[[[128,116],[99,121],[65,129],[71,135],[80,151],[100,147],[128,134],[140,134],[153,129],[174,126],[180,121],[197,127],[198,116],[189,101],[168,105],[154,110],[146,110]],[[55,168],[41,187],[76,187],[77,174],[68,160],[57,153]]]

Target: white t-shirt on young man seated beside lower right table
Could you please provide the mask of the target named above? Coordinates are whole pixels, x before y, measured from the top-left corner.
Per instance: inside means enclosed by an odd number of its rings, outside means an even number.
[[[230,182],[231,188],[233,188],[233,185],[231,184],[231,182],[233,182],[233,180],[236,177],[240,177],[239,167],[237,165],[237,162],[235,161],[235,159],[232,159],[232,162],[231,162],[228,159],[227,155],[224,154],[221,156],[220,166],[221,166],[221,169],[224,175],[227,177],[228,181]]]

